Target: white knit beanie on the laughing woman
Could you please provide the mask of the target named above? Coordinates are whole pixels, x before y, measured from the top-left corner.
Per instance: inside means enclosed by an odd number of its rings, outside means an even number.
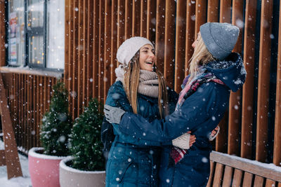
[[[140,36],[126,39],[126,41],[124,41],[117,50],[118,62],[127,66],[133,56],[138,52],[138,50],[140,50],[140,48],[145,46],[146,44],[150,44],[154,48],[151,41]]]

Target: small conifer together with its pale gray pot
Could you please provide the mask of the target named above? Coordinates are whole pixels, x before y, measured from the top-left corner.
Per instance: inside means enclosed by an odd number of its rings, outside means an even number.
[[[105,160],[100,129],[103,104],[91,99],[79,118],[75,119],[70,134],[72,157],[60,162],[60,186],[105,186]]]

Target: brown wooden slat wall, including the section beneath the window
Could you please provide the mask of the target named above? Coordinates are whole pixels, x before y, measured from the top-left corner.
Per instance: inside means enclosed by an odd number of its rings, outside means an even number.
[[[1,36],[5,34],[3,2]],[[168,85],[180,92],[200,25],[230,22],[240,27],[234,51],[243,56],[247,81],[242,90],[231,93],[215,149],[280,166],[280,9],[277,0],[65,0],[64,81],[72,118],[79,116],[90,97],[105,102],[115,81],[117,48],[124,40],[143,36],[153,41],[159,69]],[[4,43],[1,37],[2,65]],[[18,146],[25,150],[39,146],[40,120],[56,78],[7,73],[4,81]]]

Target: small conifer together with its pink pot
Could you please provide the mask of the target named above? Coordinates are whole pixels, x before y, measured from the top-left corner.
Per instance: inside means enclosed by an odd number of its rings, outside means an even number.
[[[62,81],[53,85],[49,111],[41,120],[40,148],[28,152],[32,186],[56,187],[59,183],[60,160],[69,155],[67,141],[72,128],[68,113],[68,92]]]

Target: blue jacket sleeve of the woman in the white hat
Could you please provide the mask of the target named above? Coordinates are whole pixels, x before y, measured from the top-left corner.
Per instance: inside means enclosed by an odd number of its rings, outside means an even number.
[[[129,104],[129,100],[126,97],[126,92],[124,92],[122,83],[115,83],[110,87],[110,90],[107,92],[107,99],[105,104],[110,106],[120,107],[124,111],[133,113],[133,109]],[[171,144],[171,141],[159,142],[143,139],[143,137],[136,137],[135,134],[127,134],[126,132],[121,132],[119,130],[119,125],[112,124],[115,135],[119,136],[119,139],[122,139],[122,142],[134,144],[136,146],[162,146],[166,144]]]

